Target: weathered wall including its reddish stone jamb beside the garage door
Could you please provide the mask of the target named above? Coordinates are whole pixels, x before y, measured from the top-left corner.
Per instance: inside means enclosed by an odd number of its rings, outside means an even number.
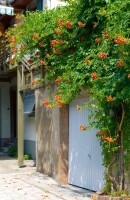
[[[48,109],[42,105],[49,99],[48,88],[35,91],[36,101],[36,161],[37,170],[53,177],[58,182],[67,182],[68,171],[68,108]]]

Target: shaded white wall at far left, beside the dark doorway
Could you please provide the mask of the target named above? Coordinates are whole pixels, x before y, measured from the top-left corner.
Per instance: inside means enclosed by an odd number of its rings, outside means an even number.
[[[1,136],[10,138],[10,83],[0,83],[1,90]]]

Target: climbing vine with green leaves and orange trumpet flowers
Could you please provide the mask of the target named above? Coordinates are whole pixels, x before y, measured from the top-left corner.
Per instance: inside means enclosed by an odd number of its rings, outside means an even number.
[[[106,193],[125,189],[130,162],[129,9],[129,0],[69,1],[65,7],[16,16],[20,23],[6,32],[10,63],[33,55],[28,62],[40,63],[45,74],[33,84],[57,85],[55,99],[43,99],[44,106],[61,108],[81,88],[90,94],[92,125],[99,129],[106,185],[110,183]]]

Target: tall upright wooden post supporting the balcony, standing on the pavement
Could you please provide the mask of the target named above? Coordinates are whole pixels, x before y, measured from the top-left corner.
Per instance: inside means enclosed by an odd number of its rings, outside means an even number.
[[[24,166],[24,103],[23,92],[20,91],[22,84],[21,66],[17,67],[17,133],[18,133],[18,165]]]

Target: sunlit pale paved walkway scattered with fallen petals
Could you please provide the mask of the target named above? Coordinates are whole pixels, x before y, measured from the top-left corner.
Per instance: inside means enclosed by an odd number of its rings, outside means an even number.
[[[59,185],[36,172],[32,162],[25,165],[18,168],[16,160],[0,156],[0,200],[90,200],[90,191]]]

